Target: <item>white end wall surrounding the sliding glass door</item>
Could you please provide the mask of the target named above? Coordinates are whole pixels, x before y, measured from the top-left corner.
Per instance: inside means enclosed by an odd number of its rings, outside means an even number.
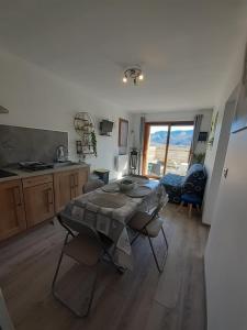
[[[194,110],[194,111],[172,111],[172,112],[158,112],[158,113],[145,113],[146,122],[166,122],[166,121],[193,121],[195,114],[203,114],[203,120],[201,124],[201,131],[210,132],[212,109]],[[131,144],[139,148],[139,113],[131,116]],[[197,153],[205,152],[206,143],[198,143]]]

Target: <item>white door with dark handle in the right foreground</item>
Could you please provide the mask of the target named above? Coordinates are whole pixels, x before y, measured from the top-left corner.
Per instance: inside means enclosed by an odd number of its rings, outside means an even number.
[[[247,329],[247,130],[231,135],[205,254],[207,329]]]

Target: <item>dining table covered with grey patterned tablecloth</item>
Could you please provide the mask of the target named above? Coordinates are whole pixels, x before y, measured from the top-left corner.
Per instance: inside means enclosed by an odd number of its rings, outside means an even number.
[[[168,202],[164,185],[159,180],[127,176],[134,187],[122,191],[116,180],[71,201],[60,217],[81,222],[104,234],[114,244],[114,263],[123,270],[133,270],[133,255],[127,223],[137,211],[150,212],[162,201]]]

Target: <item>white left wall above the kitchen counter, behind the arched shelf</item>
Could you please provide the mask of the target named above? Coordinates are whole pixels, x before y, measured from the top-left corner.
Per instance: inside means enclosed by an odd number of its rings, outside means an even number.
[[[0,105],[10,111],[0,114],[2,124],[68,132],[71,160],[77,160],[75,141],[79,136],[74,130],[77,112],[91,113],[97,125],[101,119],[114,121],[112,136],[97,136],[98,157],[87,158],[87,163],[91,168],[109,168],[111,177],[117,176],[113,169],[114,155],[119,153],[119,118],[127,119],[127,114],[115,105],[3,51],[0,52]]]

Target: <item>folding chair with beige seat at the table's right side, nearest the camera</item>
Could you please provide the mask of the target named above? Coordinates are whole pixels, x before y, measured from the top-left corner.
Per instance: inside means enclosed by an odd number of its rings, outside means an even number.
[[[138,211],[128,222],[128,227],[136,233],[134,239],[131,241],[131,244],[133,244],[139,235],[147,237],[159,273],[162,273],[164,271],[169,248],[166,233],[162,228],[164,219],[159,217],[159,212],[164,208],[164,206],[165,204],[160,202],[158,207],[155,208],[150,213]],[[158,263],[155,248],[151,242],[151,239],[157,238],[160,231],[162,233],[166,245],[164,263],[161,265]]]

